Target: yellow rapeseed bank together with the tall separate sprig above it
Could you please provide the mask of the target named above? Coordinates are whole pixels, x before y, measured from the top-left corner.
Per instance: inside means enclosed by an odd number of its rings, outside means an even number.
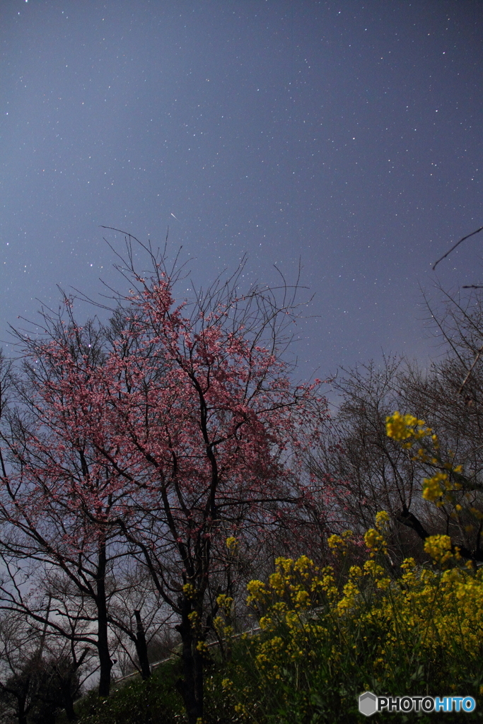
[[[424,420],[395,412],[387,435],[429,468],[424,500],[445,506],[461,531],[479,529],[483,512],[471,500],[471,478],[453,453],[443,458]],[[397,571],[387,555],[389,523],[386,511],[377,513],[364,534],[365,555],[361,539],[345,531],[327,539],[333,565],[280,557],[268,581],[248,584],[261,633],[243,639],[250,658],[243,681],[250,686],[231,679],[222,686],[233,721],[356,723],[357,697],[367,689],[399,696],[464,691],[482,708],[483,568],[464,564],[450,536],[434,535],[424,540],[430,563],[408,557]]]

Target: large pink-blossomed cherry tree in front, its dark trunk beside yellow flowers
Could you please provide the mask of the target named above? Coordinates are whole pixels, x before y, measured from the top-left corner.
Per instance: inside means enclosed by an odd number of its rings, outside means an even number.
[[[326,411],[316,385],[294,385],[283,359],[296,316],[287,285],[242,294],[235,275],[179,303],[180,274],[147,251],[152,269],[140,274],[128,245],[121,269],[132,290],[116,296],[110,325],[83,327],[65,298],[43,338],[22,337],[30,417],[8,437],[3,494],[14,526],[52,506],[72,516],[70,529],[51,530],[52,560],[60,540],[82,550],[87,526],[98,567],[108,542],[146,566],[178,618],[179,689],[195,724],[218,554],[227,538],[256,545],[264,531],[308,522],[316,492],[288,463]]]

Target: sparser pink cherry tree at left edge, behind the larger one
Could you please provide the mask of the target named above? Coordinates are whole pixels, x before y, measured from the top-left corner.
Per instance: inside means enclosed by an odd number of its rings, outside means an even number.
[[[25,594],[38,591],[41,578],[55,599],[54,581],[62,573],[70,591],[64,605],[56,607],[56,616],[67,628],[58,625],[56,633],[64,630],[66,638],[72,638],[70,623],[84,621],[82,633],[75,638],[96,647],[99,694],[107,696],[113,666],[109,628],[117,623],[116,616],[109,615],[109,606],[119,587],[125,589],[120,568],[130,556],[125,539],[112,524],[125,491],[117,483],[117,473],[96,452],[90,433],[86,435],[77,425],[80,408],[66,377],[72,368],[59,365],[54,354],[56,348],[68,344],[70,362],[77,369],[83,364],[87,368],[100,365],[103,337],[92,324],[73,330],[59,320],[53,325],[51,319],[43,319],[46,339],[42,344],[46,346],[42,350],[37,342],[25,339],[21,372],[11,375],[8,392],[7,372],[1,378],[5,403],[1,408],[4,566],[0,595],[3,607],[30,612],[38,620],[37,607],[31,603],[35,596]],[[77,383],[88,389],[85,376]],[[52,625],[49,622],[49,629]]]

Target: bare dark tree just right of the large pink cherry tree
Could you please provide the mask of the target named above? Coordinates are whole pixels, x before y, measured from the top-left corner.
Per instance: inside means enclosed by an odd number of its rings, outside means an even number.
[[[306,455],[308,472],[323,484],[326,530],[332,533],[363,533],[382,509],[395,523],[404,515],[429,514],[421,500],[424,468],[386,434],[387,416],[403,404],[406,364],[403,358],[385,358],[381,366],[371,361],[332,381],[337,409]],[[414,555],[417,537],[395,524],[390,547],[398,559]]]

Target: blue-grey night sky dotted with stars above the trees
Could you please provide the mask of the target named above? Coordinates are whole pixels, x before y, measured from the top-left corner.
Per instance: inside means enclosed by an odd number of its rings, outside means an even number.
[[[58,285],[122,287],[101,225],[169,227],[195,285],[301,259],[302,378],[440,354],[423,294],[483,282],[482,235],[431,269],[483,224],[482,21],[481,0],[0,0],[1,340]]]

